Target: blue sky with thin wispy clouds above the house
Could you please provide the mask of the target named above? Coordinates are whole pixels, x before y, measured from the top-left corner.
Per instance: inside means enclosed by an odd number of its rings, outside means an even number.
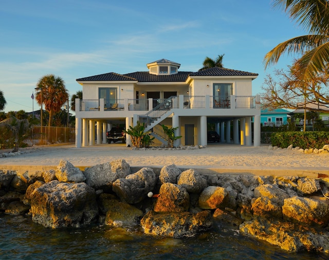
[[[266,75],[294,58],[265,70],[264,55],[306,34],[271,0],[12,0],[0,5],[0,24],[5,112],[31,112],[34,87],[47,74],[61,77],[72,95],[82,89],[78,78],[147,71],[159,59],[197,71],[218,54],[225,68],[259,73],[257,95]]]

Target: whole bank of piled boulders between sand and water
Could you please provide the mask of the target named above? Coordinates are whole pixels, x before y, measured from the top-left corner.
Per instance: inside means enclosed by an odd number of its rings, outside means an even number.
[[[0,170],[0,213],[45,227],[139,225],[145,234],[182,237],[225,221],[240,234],[288,251],[329,253],[329,178],[199,174],[175,164],[136,173],[124,159],[81,171]]]

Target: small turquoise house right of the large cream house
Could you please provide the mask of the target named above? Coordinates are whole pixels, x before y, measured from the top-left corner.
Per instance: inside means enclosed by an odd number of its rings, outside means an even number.
[[[290,112],[283,108],[261,109],[261,123],[264,126],[280,126],[288,123]]]

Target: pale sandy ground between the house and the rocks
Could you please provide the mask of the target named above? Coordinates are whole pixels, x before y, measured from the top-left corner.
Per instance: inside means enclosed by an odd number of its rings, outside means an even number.
[[[23,150],[23,149],[22,149]],[[222,169],[248,171],[300,170],[328,171],[329,153],[303,154],[295,150],[270,150],[260,147],[234,144],[211,144],[196,150],[132,150],[124,144],[100,144],[76,148],[74,145],[34,147],[33,152],[0,158],[0,169],[9,165],[58,165],[61,159],[75,166],[93,166],[107,161],[124,159],[132,167],[152,166],[161,168],[176,164],[187,169]]]

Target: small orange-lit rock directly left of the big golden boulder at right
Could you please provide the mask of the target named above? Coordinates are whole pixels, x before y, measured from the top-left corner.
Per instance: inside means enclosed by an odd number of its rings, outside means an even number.
[[[282,218],[282,208],[268,197],[259,197],[251,201],[253,214],[263,218]]]

